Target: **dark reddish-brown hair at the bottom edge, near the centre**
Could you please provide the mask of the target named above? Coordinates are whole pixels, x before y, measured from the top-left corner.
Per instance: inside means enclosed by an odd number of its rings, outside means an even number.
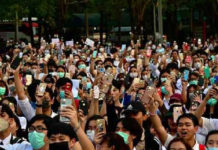
[[[107,142],[108,147],[114,146],[114,150],[130,150],[129,146],[124,143],[123,138],[116,133],[104,135],[101,144],[104,142]]]

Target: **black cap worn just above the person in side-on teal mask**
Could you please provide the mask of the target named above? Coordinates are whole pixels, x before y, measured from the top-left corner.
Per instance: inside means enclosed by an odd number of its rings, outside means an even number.
[[[146,114],[146,110],[144,105],[140,101],[131,102],[126,110],[123,112],[125,116],[128,116],[130,114],[137,114],[138,112],[142,112],[143,114]]]

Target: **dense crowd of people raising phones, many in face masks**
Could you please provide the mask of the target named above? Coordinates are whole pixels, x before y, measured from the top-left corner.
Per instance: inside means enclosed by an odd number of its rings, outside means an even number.
[[[2,150],[218,149],[217,39],[6,49]]]

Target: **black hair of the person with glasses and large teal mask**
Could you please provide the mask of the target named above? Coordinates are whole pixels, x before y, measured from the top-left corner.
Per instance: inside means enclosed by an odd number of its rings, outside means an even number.
[[[51,124],[53,123],[53,120],[51,117],[46,116],[46,115],[36,115],[34,116],[28,123],[27,127],[29,128],[34,122],[36,121],[43,121],[45,124],[46,128],[49,129]]]

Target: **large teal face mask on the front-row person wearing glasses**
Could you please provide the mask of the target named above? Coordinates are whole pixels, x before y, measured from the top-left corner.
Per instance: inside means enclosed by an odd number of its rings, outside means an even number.
[[[39,133],[36,131],[30,132],[28,134],[28,139],[33,149],[40,149],[45,145],[44,137],[44,133]]]

